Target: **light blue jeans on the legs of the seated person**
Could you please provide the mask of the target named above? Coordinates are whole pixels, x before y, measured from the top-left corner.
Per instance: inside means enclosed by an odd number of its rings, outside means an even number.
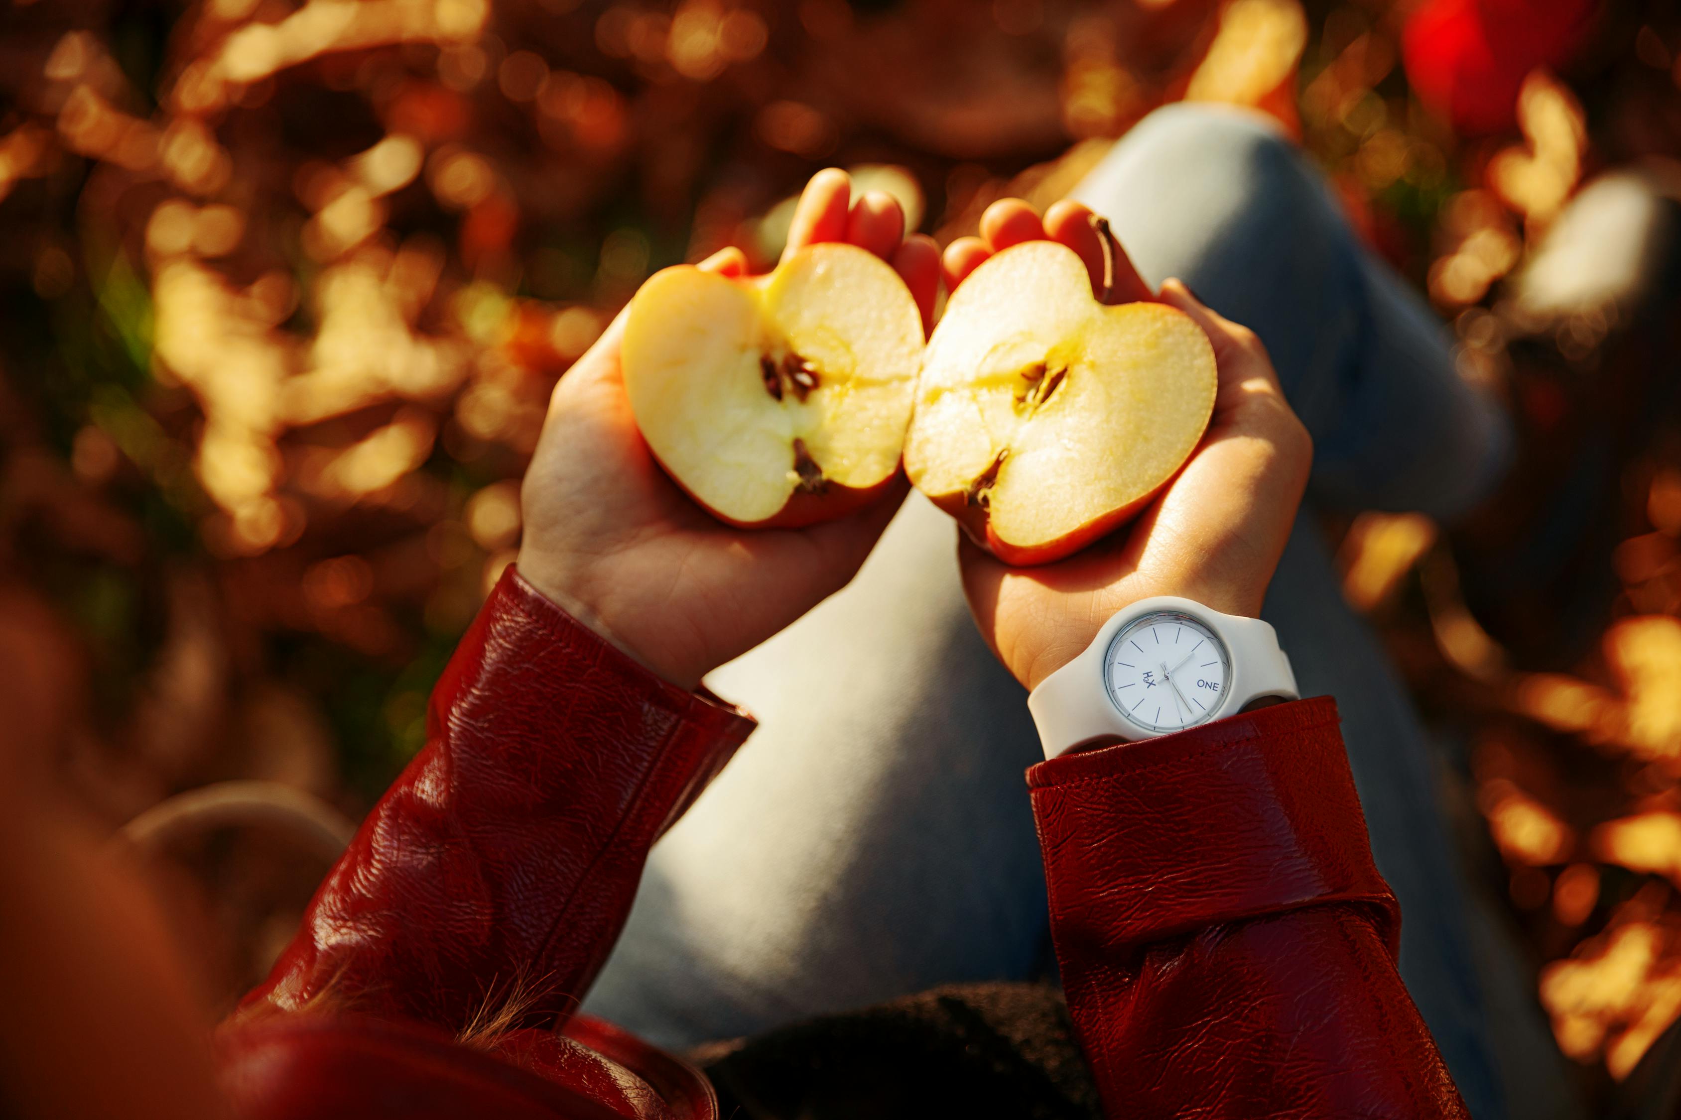
[[[1173,106],[1076,196],[1151,284],[1177,275],[1267,344],[1315,438],[1309,500],[1452,517],[1510,455],[1441,324],[1355,242],[1261,118]],[[955,526],[913,495],[859,576],[708,683],[760,730],[652,851],[585,1011],[686,1046],[938,984],[1046,972],[1022,688],[975,631]],[[1309,510],[1266,599],[1304,695],[1335,695],[1400,972],[1479,1120],[1570,1117],[1515,954],[1471,897],[1437,757]]]

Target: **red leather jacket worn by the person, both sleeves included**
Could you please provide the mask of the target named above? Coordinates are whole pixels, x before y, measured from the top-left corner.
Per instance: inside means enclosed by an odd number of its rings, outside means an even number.
[[[427,747],[219,1034],[239,1115],[713,1120],[698,1071],[573,1009],[649,846],[751,729],[509,571],[432,693]],[[1027,784],[1109,1115],[1466,1115],[1395,972],[1331,700]]]

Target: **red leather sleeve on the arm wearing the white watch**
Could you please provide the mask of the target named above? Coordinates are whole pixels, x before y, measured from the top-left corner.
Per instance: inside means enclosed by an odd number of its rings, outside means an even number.
[[[1029,786],[1108,1115],[1466,1115],[1395,971],[1333,700],[1064,756]]]

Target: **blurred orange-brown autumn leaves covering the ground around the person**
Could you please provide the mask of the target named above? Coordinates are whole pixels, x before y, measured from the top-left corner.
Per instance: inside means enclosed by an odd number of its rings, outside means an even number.
[[[229,992],[419,747],[548,391],[651,270],[773,260],[829,163],[945,242],[1202,99],[1298,136],[1520,416],[1479,524],[1330,526],[1345,589],[1464,744],[1562,1048],[1622,1078],[1681,1016],[1669,5],[5,0],[0,27],[0,623],[109,824],[247,782],[177,845]],[[303,840],[220,835],[264,821]]]

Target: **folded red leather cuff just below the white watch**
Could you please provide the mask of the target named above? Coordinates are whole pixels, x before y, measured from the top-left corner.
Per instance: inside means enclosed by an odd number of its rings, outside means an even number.
[[[1400,912],[1372,861],[1330,697],[1027,771],[1059,949],[1125,952],[1331,902]]]

